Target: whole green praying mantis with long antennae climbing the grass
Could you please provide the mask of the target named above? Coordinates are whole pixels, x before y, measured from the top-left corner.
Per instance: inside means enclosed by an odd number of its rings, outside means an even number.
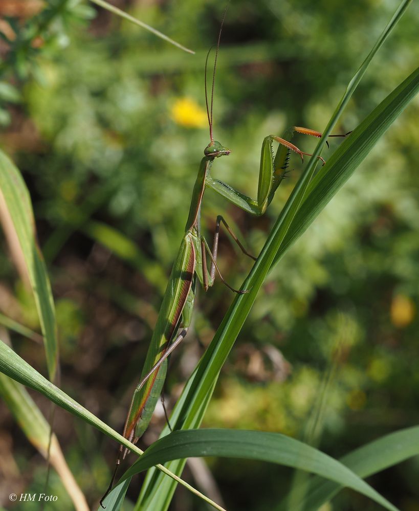
[[[204,290],[207,291],[208,288],[214,284],[215,273],[217,273],[223,283],[229,287],[231,291],[240,294],[247,292],[247,290],[235,290],[220,274],[216,263],[220,225],[224,224],[227,232],[232,236],[233,240],[237,243],[244,254],[252,259],[256,258],[246,251],[221,215],[218,215],[216,219],[213,246],[212,249],[210,249],[208,242],[201,232],[201,204],[205,190],[207,188],[211,188],[235,206],[238,206],[253,215],[262,215],[272,202],[278,186],[287,173],[291,151],[299,154],[302,161],[304,161],[304,155],[311,156],[310,153],[301,151],[297,146],[290,142],[294,133],[298,132],[319,138],[322,136],[319,131],[293,126],[285,131],[283,137],[277,137],[276,135],[269,135],[265,137],[262,142],[260,154],[259,182],[256,199],[238,192],[223,181],[213,179],[211,176],[211,168],[215,160],[223,156],[228,156],[231,152],[230,149],[214,140],[212,129],[214,78],[221,32],[222,28],[218,34],[218,42],[215,53],[210,109],[208,108],[206,87],[207,62],[210,52],[208,52],[205,63],[205,99],[207,105],[210,143],[204,150],[204,158],[201,160],[192,192],[185,233],[181,240],[178,255],[174,261],[169,281],[167,283],[156,328],[151,337],[147,357],[141,374],[141,381],[135,388],[125,421],[123,436],[134,443],[138,441],[147,429],[151,420],[151,415],[162,392],[167,370],[167,357],[175,349],[175,347],[181,343],[187,334],[191,323],[196,281],[199,280],[204,287]],[[346,135],[331,136],[345,137]],[[279,147],[276,151],[275,157],[273,158],[274,141],[278,142]],[[320,156],[317,158],[324,164],[323,158]],[[207,266],[207,254],[211,259],[209,271]],[[111,484],[100,501],[102,507],[104,507],[102,504],[104,498],[111,491],[118,466],[121,462],[121,458],[125,456],[125,453],[126,450],[124,450],[121,445]]]

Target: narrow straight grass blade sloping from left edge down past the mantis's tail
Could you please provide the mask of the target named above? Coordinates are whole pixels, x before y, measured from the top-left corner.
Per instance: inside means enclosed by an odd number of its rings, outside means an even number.
[[[31,367],[27,362],[25,362],[22,358],[18,356],[7,344],[3,341],[0,341],[0,372],[6,374],[16,382],[19,382],[27,387],[30,387],[37,392],[45,395],[55,403],[60,406],[64,410],[71,412],[73,415],[80,417],[86,423],[94,426],[96,429],[104,433],[105,435],[113,438],[118,443],[122,443],[123,446],[128,448],[130,451],[134,452],[138,456],[143,454],[143,451],[135,446],[133,443],[129,442],[122,435],[117,433],[115,430],[110,428],[103,421],[98,419],[96,415],[82,407],[77,401],[75,401],[72,397],[65,394],[61,389],[56,387],[53,383],[44,378],[41,374],[38,373],[33,367]],[[182,479],[180,479],[175,474],[172,474],[169,470],[167,470],[164,466],[158,465],[157,468],[164,472],[169,477],[173,477],[178,483],[185,486],[190,492],[194,493],[196,496],[200,497],[202,500],[212,505],[216,509],[223,511],[223,508],[218,506],[215,502],[212,502],[208,497],[203,495],[201,492],[198,492],[191,486],[186,483]]]

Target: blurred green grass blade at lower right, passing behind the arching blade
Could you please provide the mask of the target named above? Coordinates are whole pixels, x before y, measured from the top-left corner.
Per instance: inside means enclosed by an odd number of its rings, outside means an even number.
[[[419,455],[419,427],[403,429],[385,435],[378,440],[352,451],[340,458],[340,462],[358,476],[365,478],[412,456]],[[315,477],[308,487],[306,495],[298,502],[301,511],[315,511],[326,501],[332,499],[342,486],[324,482]],[[301,506],[301,507],[300,507]],[[281,506],[286,509],[286,503]]]

